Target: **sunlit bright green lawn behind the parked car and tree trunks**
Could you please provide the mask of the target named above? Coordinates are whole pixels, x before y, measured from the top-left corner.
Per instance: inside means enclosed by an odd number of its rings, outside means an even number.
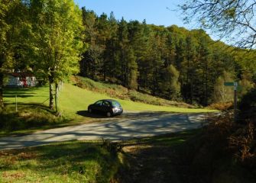
[[[14,104],[15,95],[18,95],[18,104],[43,104],[49,103],[47,100],[48,87],[41,88],[24,88],[24,89],[8,89],[5,91],[5,102]],[[81,119],[79,111],[86,111],[89,104],[94,103],[102,98],[111,98],[108,95],[91,92],[75,85],[64,84],[60,92],[60,110],[63,115],[71,119]],[[134,101],[117,99],[122,104],[125,111],[170,111],[170,112],[210,112],[207,109],[177,108],[169,106],[157,106],[151,104],[138,103]],[[18,107],[19,108],[19,107]]]

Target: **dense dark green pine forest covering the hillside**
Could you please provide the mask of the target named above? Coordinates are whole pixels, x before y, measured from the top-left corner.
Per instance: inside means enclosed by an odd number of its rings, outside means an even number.
[[[82,8],[84,43],[80,75],[190,104],[232,100],[235,79],[251,88],[254,53],[212,40],[204,30],[120,21]],[[251,69],[251,70],[250,70]]]

